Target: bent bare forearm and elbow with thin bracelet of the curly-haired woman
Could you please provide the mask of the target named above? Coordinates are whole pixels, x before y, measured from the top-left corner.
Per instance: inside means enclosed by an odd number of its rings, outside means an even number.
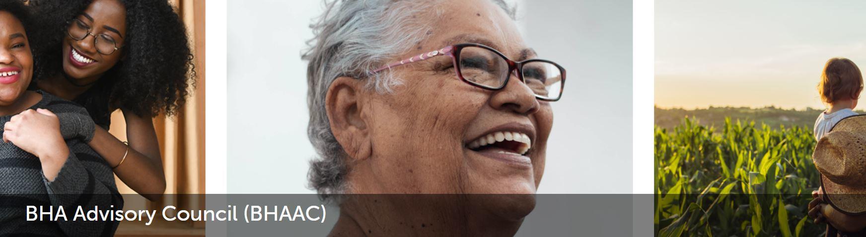
[[[140,117],[132,112],[122,112],[126,118],[129,152],[126,153],[126,144],[98,126],[94,132],[94,139],[89,143],[90,147],[104,157],[112,167],[117,166],[126,154],[123,163],[114,168],[114,174],[132,190],[150,201],[156,201],[165,193],[165,172],[152,117]]]

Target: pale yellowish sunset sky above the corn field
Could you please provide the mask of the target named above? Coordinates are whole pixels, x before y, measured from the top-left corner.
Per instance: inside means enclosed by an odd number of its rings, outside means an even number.
[[[823,108],[824,62],[866,72],[866,1],[821,3],[656,1],[656,106]]]

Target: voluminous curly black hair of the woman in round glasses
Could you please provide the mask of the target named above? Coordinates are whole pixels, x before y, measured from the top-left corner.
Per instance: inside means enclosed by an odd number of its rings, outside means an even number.
[[[30,0],[37,29],[34,80],[64,75],[62,42],[68,21],[93,0]],[[139,116],[174,115],[184,105],[196,73],[186,27],[167,0],[120,0],[126,6],[123,58],[74,99],[94,119],[116,109]],[[190,86],[191,85],[191,86]],[[96,121],[107,124],[107,121]],[[103,122],[103,123],[100,123]]]

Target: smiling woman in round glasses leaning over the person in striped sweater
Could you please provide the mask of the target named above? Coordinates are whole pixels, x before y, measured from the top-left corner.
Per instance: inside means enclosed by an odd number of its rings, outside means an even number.
[[[39,31],[36,86],[87,108],[89,143],[130,188],[165,192],[152,118],[183,106],[195,74],[184,23],[167,1],[31,0]],[[107,132],[120,109],[128,143]]]

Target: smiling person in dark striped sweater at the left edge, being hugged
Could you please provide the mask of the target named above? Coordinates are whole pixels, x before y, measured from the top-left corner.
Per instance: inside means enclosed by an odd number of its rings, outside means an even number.
[[[111,167],[87,145],[95,126],[87,111],[27,90],[34,67],[27,16],[22,1],[0,0],[0,236],[113,235],[119,221],[71,218],[77,207],[121,209],[123,199]],[[80,136],[65,138],[70,130]],[[68,219],[26,221],[30,205],[63,207]]]

